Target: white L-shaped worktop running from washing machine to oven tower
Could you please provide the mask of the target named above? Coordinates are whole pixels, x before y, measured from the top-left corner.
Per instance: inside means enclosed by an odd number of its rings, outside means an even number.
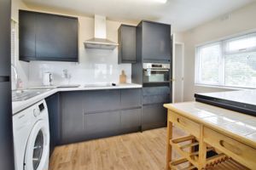
[[[40,88],[40,87],[37,87]],[[43,87],[42,87],[43,88]],[[32,97],[31,99],[26,99],[23,101],[15,101],[13,102],[13,115],[16,113],[26,109],[27,107],[37,103],[38,101],[45,99],[49,97],[52,94],[58,93],[58,92],[68,92],[68,91],[86,91],[86,90],[104,90],[104,89],[124,89],[124,88],[143,88],[141,84],[135,84],[135,83],[125,83],[125,84],[118,84],[117,86],[90,86],[90,87],[84,87],[84,85],[81,85],[79,88],[52,88],[49,91],[46,91],[43,94],[38,94],[35,97]],[[34,88],[33,88],[34,89]]]

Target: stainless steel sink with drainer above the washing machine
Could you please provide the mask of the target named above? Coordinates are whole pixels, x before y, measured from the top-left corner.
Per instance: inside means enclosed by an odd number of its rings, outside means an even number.
[[[24,89],[12,91],[12,100],[14,101],[24,101],[26,99],[31,99],[39,94],[44,94],[50,89]]]

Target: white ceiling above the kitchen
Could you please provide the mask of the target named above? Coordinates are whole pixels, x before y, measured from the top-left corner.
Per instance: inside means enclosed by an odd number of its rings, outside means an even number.
[[[172,24],[174,31],[186,31],[230,13],[255,0],[23,0],[27,4],[73,14],[102,14],[108,20],[154,20]]]

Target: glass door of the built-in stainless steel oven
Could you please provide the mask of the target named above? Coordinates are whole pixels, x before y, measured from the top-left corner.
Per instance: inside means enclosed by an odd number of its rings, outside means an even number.
[[[170,83],[169,69],[144,69],[143,85],[168,85]]]

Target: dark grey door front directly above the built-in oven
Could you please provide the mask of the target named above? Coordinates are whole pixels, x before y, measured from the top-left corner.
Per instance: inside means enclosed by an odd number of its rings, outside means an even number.
[[[171,26],[143,22],[143,59],[171,61]]]

